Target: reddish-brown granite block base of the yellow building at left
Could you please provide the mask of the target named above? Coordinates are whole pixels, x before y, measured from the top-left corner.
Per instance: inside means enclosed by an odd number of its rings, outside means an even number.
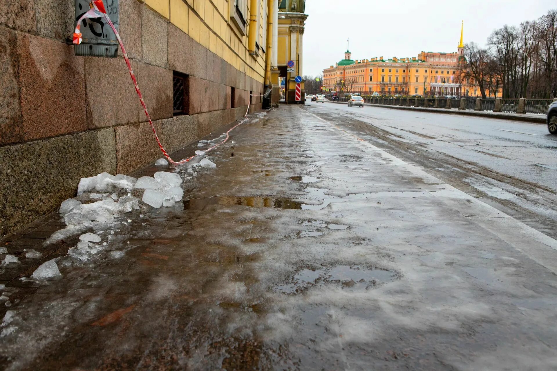
[[[252,58],[241,44],[226,44],[224,16],[211,15],[223,23],[217,55],[156,10],[120,0],[120,33],[172,152],[242,117],[250,91],[264,91],[256,73],[263,70],[241,62]],[[206,14],[187,2],[183,12],[211,33]],[[121,51],[115,59],[75,56],[74,26],[73,1],[8,1],[0,13],[0,236],[55,210],[75,195],[81,177],[129,173],[162,157]],[[185,114],[178,116],[174,73],[187,82]],[[261,109],[259,98],[253,102],[251,111]]]

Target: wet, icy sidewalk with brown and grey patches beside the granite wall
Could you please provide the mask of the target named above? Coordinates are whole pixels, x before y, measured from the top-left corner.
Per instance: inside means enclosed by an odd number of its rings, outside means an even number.
[[[4,239],[62,277],[2,267],[2,368],[554,370],[557,241],[314,109],[253,119],[183,202],[121,215],[119,259],[68,263],[52,215]]]

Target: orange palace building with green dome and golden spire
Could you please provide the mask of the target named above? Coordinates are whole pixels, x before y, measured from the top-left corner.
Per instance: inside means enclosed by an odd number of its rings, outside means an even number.
[[[323,70],[323,86],[329,91],[363,94],[477,96],[477,87],[458,82],[458,59],[463,55],[462,28],[455,53],[421,52],[417,58],[354,61],[347,50],[343,60]]]

